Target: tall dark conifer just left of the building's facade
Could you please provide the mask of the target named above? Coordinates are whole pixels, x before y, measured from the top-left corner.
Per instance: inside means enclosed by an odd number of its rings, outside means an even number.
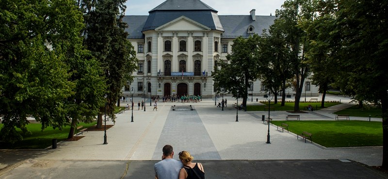
[[[114,106],[130,74],[136,70],[137,59],[133,46],[127,40],[128,26],[122,21],[126,0],[82,0],[79,7],[84,13],[86,28],[85,45],[92,55],[101,63],[107,84],[107,112],[114,121]],[[97,128],[102,127],[100,107]]]

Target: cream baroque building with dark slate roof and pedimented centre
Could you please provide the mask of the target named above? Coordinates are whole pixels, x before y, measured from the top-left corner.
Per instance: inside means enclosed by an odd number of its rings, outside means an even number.
[[[269,29],[275,16],[217,15],[200,0],[166,0],[149,15],[126,15],[128,39],[139,60],[133,82],[123,89],[130,96],[189,94],[213,98],[211,71],[217,60],[226,60],[233,40]],[[248,13],[247,13],[248,14]],[[250,82],[250,95],[263,95],[260,81]],[[307,79],[304,92],[318,96],[318,87]],[[292,89],[286,90],[292,96]]]

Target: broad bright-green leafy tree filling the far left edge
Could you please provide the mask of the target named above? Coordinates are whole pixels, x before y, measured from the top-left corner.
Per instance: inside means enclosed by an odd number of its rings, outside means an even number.
[[[82,45],[82,15],[72,0],[8,0],[1,14],[1,140],[22,140],[15,127],[28,133],[30,116],[42,130],[61,130],[69,123],[66,101],[79,92],[68,62]]]

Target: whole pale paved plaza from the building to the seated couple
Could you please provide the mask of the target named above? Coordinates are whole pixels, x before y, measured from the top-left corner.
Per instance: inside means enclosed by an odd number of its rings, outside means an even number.
[[[272,125],[271,144],[266,144],[268,125],[263,124],[261,116],[267,116],[268,112],[238,111],[239,121],[236,122],[237,111],[231,107],[236,100],[224,98],[228,99],[224,111],[214,105],[214,99],[185,104],[160,102],[158,111],[152,111],[153,106],[148,103],[146,111],[133,110],[134,122],[130,122],[131,111],[125,111],[117,115],[115,125],[107,130],[107,145],[102,144],[103,131],[90,131],[84,132],[84,137],[78,141],[58,143],[57,149],[0,150],[0,168],[3,168],[0,178],[16,179],[25,172],[31,173],[26,178],[152,178],[153,164],[161,159],[165,144],[174,147],[175,159],[178,159],[179,151],[190,151],[194,160],[204,164],[210,179],[238,176],[306,178],[309,175],[311,178],[330,178],[321,174],[333,177],[346,174],[339,178],[386,177],[368,167],[381,165],[382,147],[324,148],[305,143],[295,134],[276,130]],[[265,100],[255,97],[248,105],[259,105],[256,98]],[[141,100],[134,98],[135,102]],[[301,120],[335,120],[332,112],[354,105],[348,104],[350,99],[344,97],[328,95],[326,100],[341,100],[344,104],[299,114]],[[121,104],[124,105],[125,102]],[[194,110],[174,111],[172,105],[192,105]],[[271,118],[285,120],[287,114],[286,111],[273,111]],[[369,119],[351,117],[351,120]],[[113,122],[110,120],[107,124]],[[68,169],[75,172],[69,174]],[[60,176],[61,170],[66,176]],[[276,174],[277,170],[291,173]],[[335,174],[337,170],[343,171],[342,174]],[[330,172],[334,173],[327,174]]]

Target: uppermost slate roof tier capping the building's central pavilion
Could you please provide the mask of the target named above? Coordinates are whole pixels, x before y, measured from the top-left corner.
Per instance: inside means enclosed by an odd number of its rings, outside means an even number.
[[[203,3],[200,0],[166,0],[152,11],[196,11],[196,10],[210,10],[217,13],[216,10]]]

